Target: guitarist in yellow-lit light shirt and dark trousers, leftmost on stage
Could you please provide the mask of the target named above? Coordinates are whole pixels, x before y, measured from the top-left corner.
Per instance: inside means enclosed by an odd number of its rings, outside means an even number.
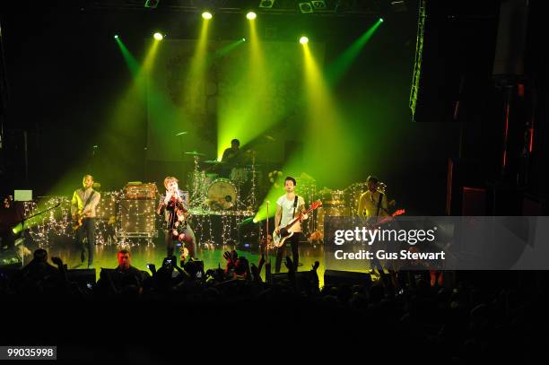
[[[93,251],[95,248],[95,208],[100,202],[100,193],[93,190],[92,175],[83,177],[83,188],[76,189],[71,202],[71,215],[76,222],[76,239],[82,247],[80,259],[84,261],[84,236],[88,239],[88,268],[93,267]]]

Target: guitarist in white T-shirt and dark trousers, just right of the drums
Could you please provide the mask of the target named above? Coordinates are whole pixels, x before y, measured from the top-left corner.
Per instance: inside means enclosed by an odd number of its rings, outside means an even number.
[[[305,200],[302,196],[295,195],[295,178],[287,177],[284,180],[284,190],[286,194],[281,196],[276,201],[276,215],[274,216],[274,230],[276,233],[280,233],[280,229],[285,227],[286,224],[291,222],[293,218],[297,217],[305,211]],[[302,219],[307,219],[307,214],[303,215]],[[301,221],[295,223],[290,231],[294,232],[290,239],[287,239],[286,242],[290,242],[292,247],[292,262],[294,270],[297,272],[298,263],[300,260],[299,253],[299,242],[303,236],[301,230]],[[274,272],[280,273],[280,266],[282,265],[283,254],[286,247],[286,242],[283,243],[283,246],[276,249],[276,261],[274,263]]]

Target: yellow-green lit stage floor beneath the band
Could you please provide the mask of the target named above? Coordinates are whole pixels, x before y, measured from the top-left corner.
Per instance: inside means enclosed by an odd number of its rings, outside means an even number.
[[[32,250],[32,247],[29,247]],[[93,266],[96,269],[96,275],[99,279],[100,268],[115,268],[118,265],[117,262],[117,252],[118,249],[122,246],[116,244],[111,245],[97,245],[95,247],[95,254],[93,259]],[[130,243],[129,246],[124,246],[128,248],[131,252],[131,265],[148,271],[146,269],[147,264],[154,264],[156,267],[160,267],[163,258],[166,256],[166,248],[163,243],[155,240],[154,243],[147,244],[142,242],[139,244]],[[216,268],[218,265],[221,265],[222,268],[226,265],[226,260],[223,258],[223,253],[225,251],[230,251],[234,249],[234,245],[227,246],[214,246],[213,248],[199,247],[197,249],[196,257],[204,261],[205,270],[210,268]],[[59,256],[63,259],[65,264],[69,269],[79,269],[87,267],[87,259],[84,264],[81,264],[80,261],[80,249],[76,244],[61,242],[57,244],[52,244],[48,249],[48,256]],[[258,250],[253,249],[237,249],[239,256],[245,256],[248,258],[248,261],[257,265],[259,262],[260,254]],[[287,251],[288,252],[288,251]],[[290,251],[291,252],[291,251]],[[29,257],[29,256],[27,256]],[[271,262],[274,271],[274,251],[271,254]],[[300,263],[302,264],[298,271],[309,271],[311,266],[318,261],[320,266],[318,267],[318,279],[320,281],[320,286],[324,285],[324,250],[321,245],[313,247],[309,243],[301,243],[300,245]],[[287,269],[284,264],[282,264],[282,273],[286,273]],[[363,270],[366,272],[366,268]],[[265,279],[265,270],[262,270],[261,276]]]

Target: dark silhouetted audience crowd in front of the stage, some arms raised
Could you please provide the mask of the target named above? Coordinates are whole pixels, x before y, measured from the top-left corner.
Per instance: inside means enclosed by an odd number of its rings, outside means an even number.
[[[504,346],[512,342],[513,334],[530,334],[529,326],[534,325],[525,318],[536,308],[539,295],[539,285],[524,285],[528,277],[539,273],[500,273],[497,280],[491,274],[479,280],[475,273],[447,273],[445,280],[450,274],[455,278],[441,285],[442,281],[431,280],[428,271],[391,271],[381,272],[375,282],[326,284],[319,288],[318,262],[309,271],[295,273],[290,257],[285,260],[288,274],[283,281],[267,283],[260,273],[263,265],[250,264],[236,251],[224,253],[224,269],[205,271],[202,261],[190,258],[178,263],[172,256],[164,258],[158,270],[147,265],[152,275],[131,265],[129,251],[122,249],[117,256],[118,267],[102,270],[97,285],[86,289],[67,280],[60,258],[52,258],[57,267],[50,265],[47,252],[38,249],[11,282],[6,284],[3,276],[0,297],[169,300],[167,308],[187,308],[185,316],[192,313],[188,309],[192,305],[222,310],[230,304],[242,308],[265,306],[267,312],[291,309],[303,316],[318,309],[325,313],[319,321],[327,314],[347,316],[378,340],[386,335],[405,340],[399,344],[403,351],[428,346],[429,352],[440,359],[460,363],[471,361],[478,351],[508,349]]]

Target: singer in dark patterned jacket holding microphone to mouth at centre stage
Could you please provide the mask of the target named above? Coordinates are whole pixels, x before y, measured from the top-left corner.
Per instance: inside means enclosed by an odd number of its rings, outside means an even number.
[[[196,257],[195,233],[188,224],[188,192],[179,190],[179,180],[164,178],[166,194],[161,196],[158,214],[164,214],[164,239],[168,257],[173,256],[176,245],[187,248],[188,255]],[[183,250],[181,250],[183,252]]]

